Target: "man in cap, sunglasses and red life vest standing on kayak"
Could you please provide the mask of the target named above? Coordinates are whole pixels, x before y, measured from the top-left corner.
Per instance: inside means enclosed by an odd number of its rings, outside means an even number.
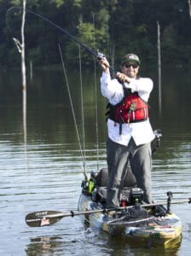
[[[106,58],[99,63],[103,71],[101,93],[109,101],[107,207],[119,207],[120,183],[129,161],[137,187],[144,192],[143,201],[151,203],[150,143],[154,134],[147,102],[153,81],[137,77],[141,61],[135,54],[124,55],[116,79],[111,79]]]

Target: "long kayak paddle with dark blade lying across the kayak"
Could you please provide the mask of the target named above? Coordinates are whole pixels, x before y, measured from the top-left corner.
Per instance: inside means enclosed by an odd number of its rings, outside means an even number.
[[[171,201],[172,204],[184,203],[188,202],[191,203],[191,198],[187,200],[181,201]],[[142,205],[142,207],[155,207],[165,205],[166,202],[157,202],[152,204]],[[26,215],[26,224],[30,227],[42,227],[45,225],[55,224],[56,222],[60,221],[61,218],[65,217],[74,217],[78,215],[89,215],[92,213],[107,213],[110,211],[118,211],[118,210],[126,210],[131,208],[130,207],[118,207],[118,208],[111,208],[111,209],[98,209],[98,210],[91,210],[91,211],[84,211],[84,212],[58,212],[58,211],[41,211],[41,212],[31,212]]]

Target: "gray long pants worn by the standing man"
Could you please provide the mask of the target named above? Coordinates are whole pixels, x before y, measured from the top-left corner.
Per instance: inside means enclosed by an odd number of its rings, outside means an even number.
[[[121,178],[130,161],[130,167],[136,177],[137,187],[144,192],[143,201],[151,199],[151,146],[150,143],[136,146],[131,137],[127,146],[107,140],[107,207],[119,207]]]

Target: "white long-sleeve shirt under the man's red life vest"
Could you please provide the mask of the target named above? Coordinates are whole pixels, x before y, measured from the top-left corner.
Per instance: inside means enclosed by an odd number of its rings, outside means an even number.
[[[153,90],[153,81],[147,78],[131,79],[130,84],[124,83],[124,86],[130,88],[132,92],[137,91],[145,102],[148,102],[150,92]],[[101,93],[112,105],[116,105],[124,98],[123,85],[118,79],[111,79],[110,73],[102,73]],[[136,145],[150,143],[153,138],[153,129],[149,119],[142,122],[122,124],[122,133],[119,134],[119,124],[114,123],[112,119],[107,120],[108,137],[115,143],[127,145],[130,137],[133,137]]]

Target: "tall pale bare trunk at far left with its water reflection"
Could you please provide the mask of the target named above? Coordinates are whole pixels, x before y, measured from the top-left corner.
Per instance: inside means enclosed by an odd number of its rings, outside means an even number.
[[[22,72],[22,90],[23,90],[23,130],[24,141],[26,144],[26,55],[25,55],[25,22],[26,22],[26,0],[23,0],[23,13],[21,24],[21,43],[18,39],[13,38],[17,49],[21,55],[21,72]]]

